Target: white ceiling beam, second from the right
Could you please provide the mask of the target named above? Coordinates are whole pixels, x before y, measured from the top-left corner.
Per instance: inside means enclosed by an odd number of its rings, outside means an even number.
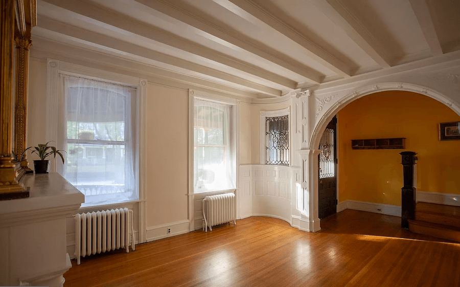
[[[311,2],[382,68],[391,66],[391,61],[385,52],[343,5],[336,0],[311,0]]]

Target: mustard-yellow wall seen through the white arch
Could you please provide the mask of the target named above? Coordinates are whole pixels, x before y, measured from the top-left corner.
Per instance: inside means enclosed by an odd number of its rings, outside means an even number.
[[[460,141],[439,141],[440,122],[460,121],[446,105],[416,93],[360,98],[338,114],[339,201],[401,205],[401,151],[418,157],[419,191],[460,194]],[[352,139],[406,138],[406,148],[353,150]]]

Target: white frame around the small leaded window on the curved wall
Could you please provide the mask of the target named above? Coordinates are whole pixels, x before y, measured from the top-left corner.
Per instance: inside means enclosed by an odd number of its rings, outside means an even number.
[[[266,118],[288,116],[288,132],[289,132],[289,165],[267,164],[266,162]],[[260,164],[271,166],[292,166],[292,131],[291,131],[291,107],[274,111],[260,112]]]

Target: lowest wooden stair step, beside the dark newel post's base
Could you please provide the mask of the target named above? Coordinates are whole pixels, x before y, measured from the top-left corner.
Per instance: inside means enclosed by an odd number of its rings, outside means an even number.
[[[460,242],[460,228],[458,227],[425,222],[421,220],[409,219],[407,221],[409,222],[409,230],[413,233],[420,233]]]

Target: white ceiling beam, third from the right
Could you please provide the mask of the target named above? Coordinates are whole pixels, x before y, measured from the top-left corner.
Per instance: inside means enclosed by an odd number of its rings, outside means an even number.
[[[258,18],[274,30],[284,34],[289,39],[298,43],[298,45],[304,47],[307,52],[306,54],[317,61],[318,63],[324,65],[329,70],[337,73],[338,75],[348,78],[351,76],[351,69],[343,64],[341,61],[337,60],[335,57],[315,45],[311,40],[307,39],[302,33],[295,30],[293,27],[286,24],[282,19],[274,16],[270,12],[266,11],[260,5],[255,3],[252,0],[228,0],[233,4],[237,5],[244,11],[248,12],[252,16]]]

